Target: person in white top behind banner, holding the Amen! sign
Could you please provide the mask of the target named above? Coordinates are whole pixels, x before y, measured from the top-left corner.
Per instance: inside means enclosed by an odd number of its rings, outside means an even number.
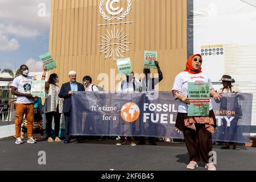
[[[126,80],[122,80],[118,84],[117,92],[139,92],[142,88],[141,82],[134,77],[134,73],[131,72],[129,75],[126,76]],[[131,146],[136,146],[136,143],[134,142],[134,137],[127,137],[128,140],[130,140]],[[125,136],[122,136],[118,143],[116,143],[117,146],[120,146],[122,144],[125,144]]]

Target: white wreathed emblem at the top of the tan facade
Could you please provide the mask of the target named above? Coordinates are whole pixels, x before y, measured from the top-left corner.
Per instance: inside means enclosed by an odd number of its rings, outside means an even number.
[[[127,8],[126,10],[123,7],[118,7],[114,4],[117,4],[121,1],[127,1]],[[105,5],[105,10],[107,11],[108,14],[105,13],[104,11],[104,5]],[[125,19],[126,16],[130,13],[131,11],[131,0],[107,0],[105,3],[105,0],[101,0],[100,2],[100,14],[102,18],[104,18],[107,21],[113,21],[114,19],[116,20],[122,20]],[[119,15],[119,16],[118,16]]]

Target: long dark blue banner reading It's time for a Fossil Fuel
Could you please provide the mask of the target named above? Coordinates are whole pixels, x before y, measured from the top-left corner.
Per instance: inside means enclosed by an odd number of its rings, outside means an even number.
[[[71,97],[70,134],[182,139],[183,135],[175,131],[178,101],[171,95],[75,92]],[[240,97],[245,99],[240,101]],[[217,120],[213,140],[249,142],[253,94],[229,93],[222,98],[212,98]]]

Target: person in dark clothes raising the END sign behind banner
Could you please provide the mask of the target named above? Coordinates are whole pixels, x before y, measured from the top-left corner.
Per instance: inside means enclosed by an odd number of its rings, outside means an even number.
[[[155,85],[157,85],[160,81],[163,80],[163,73],[160,70],[158,61],[155,61],[156,68],[158,69],[158,78],[151,78],[150,77],[150,69],[144,68],[143,73],[144,77],[142,79],[142,90],[141,91],[155,91]],[[149,143],[151,145],[156,145],[155,138],[150,137]],[[139,145],[146,144],[145,137],[139,138]]]

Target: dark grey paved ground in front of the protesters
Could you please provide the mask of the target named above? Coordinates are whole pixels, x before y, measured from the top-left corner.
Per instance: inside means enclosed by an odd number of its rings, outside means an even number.
[[[0,141],[0,170],[120,170],[169,171],[187,170],[188,152],[185,144],[158,142],[157,146],[115,146],[115,140],[69,144],[23,143]],[[46,165],[39,165],[39,151],[46,152]],[[217,153],[218,170],[256,170],[256,148],[241,146],[241,151],[220,150]],[[195,170],[204,170],[204,163]]]

